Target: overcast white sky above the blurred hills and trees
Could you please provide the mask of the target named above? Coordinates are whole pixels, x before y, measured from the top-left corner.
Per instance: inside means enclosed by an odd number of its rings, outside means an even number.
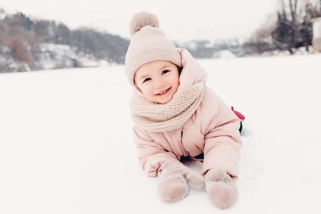
[[[178,42],[220,38],[246,38],[276,12],[278,0],[10,0],[0,7],[9,13],[55,20],[74,29],[94,27],[130,38],[128,24],[136,12],[145,10],[158,16],[160,29]]]

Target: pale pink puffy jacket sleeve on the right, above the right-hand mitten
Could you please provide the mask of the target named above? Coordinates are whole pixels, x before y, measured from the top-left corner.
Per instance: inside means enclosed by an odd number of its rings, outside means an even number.
[[[205,130],[203,174],[213,167],[223,167],[235,179],[238,177],[238,163],[242,141],[239,134],[239,118],[220,98],[210,92],[207,103],[212,109],[205,116],[211,116]]]

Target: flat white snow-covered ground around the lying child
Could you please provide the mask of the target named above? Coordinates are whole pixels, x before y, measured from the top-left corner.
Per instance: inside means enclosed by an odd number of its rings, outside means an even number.
[[[0,74],[0,213],[315,213],[320,57],[199,60],[246,116],[239,199],[226,210],[193,186],[160,201],[136,160],[124,66]]]

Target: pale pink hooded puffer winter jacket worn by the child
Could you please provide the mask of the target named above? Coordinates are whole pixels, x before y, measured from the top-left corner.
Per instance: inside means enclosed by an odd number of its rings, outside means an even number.
[[[205,84],[205,69],[186,49],[177,48],[177,51],[182,55],[183,65],[177,90],[198,81]],[[182,127],[165,132],[151,132],[133,126],[139,164],[148,176],[157,176],[160,165],[167,160],[179,160],[181,157],[193,159],[204,153],[203,174],[213,167],[223,167],[237,179],[242,146],[239,125],[239,119],[231,108],[205,86],[202,102]]]

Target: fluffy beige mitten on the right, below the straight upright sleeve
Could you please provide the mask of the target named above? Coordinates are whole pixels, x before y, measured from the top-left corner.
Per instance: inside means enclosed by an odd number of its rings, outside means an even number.
[[[232,206],[237,198],[238,191],[235,181],[223,168],[213,168],[204,176],[205,190],[211,201],[219,208]]]

